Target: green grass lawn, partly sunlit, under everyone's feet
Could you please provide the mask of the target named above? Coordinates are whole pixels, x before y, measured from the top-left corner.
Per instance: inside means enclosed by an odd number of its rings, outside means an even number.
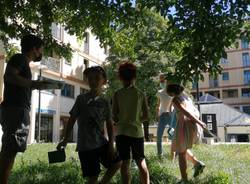
[[[48,164],[47,152],[54,150],[55,144],[34,144],[25,154],[18,154],[10,184],[82,184],[80,164],[75,144],[67,147],[67,161]],[[152,184],[174,184],[180,179],[178,162],[171,162],[169,146],[165,145],[165,158],[158,159],[155,145],[146,145],[147,164]],[[206,163],[204,173],[192,184],[249,184],[250,183],[250,145],[198,145],[194,154]],[[132,184],[139,184],[135,166],[131,169]],[[189,178],[192,165],[188,166]],[[121,183],[119,173],[112,183]]]

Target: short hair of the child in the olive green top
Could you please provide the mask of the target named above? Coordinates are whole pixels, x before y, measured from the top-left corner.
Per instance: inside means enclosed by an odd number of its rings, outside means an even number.
[[[124,81],[132,81],[136,78],[136,66],[128,61],[120,64],[119,77]]]

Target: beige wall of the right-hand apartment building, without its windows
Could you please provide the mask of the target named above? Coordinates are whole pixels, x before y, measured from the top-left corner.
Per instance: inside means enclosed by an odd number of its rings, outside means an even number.
[[[239,48],[228,49],[227,59],[222,59],[220,65],[223,68],[222,73],[228,72],[229,79],[223,80],[221,74],[218,76],[218,86],[213,87],[209,84],[209,74],[205,73],[204,81],[199,81],[199,91],[201,95],[205,93],[211,95],[219,93],[219,98],[223,100],[223,103],[236,107],[241,111],[243,111],[245,107],[250,108],[250,93],[248,93],[246,97],[242,94],[242,89],[250,88],[250,84],[246,85],[244,81],[244,71],[250,71],[250,64],[246,66],[243,65],[243,53],[250,55],[250,43],[248,43],[248,48],[243,48],[241,41],[239,41]],[[228,90],[234,90],[234,94],[232,95],[232,91]],[[196,89],[193,89],[192,94],[194,96],[196,95],[195,93]],[[229,93],[231,93],[231,96]],[[214,96],[218,97],[217,95]],[[250,112],[248,111],[246,113]]]

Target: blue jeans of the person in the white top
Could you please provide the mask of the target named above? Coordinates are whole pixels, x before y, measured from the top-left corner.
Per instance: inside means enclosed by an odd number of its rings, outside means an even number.
[[[166,125],[170,125],[172,121],[171,113],[162,113],[159,117],[158,127],[157,127],[157,153],[162,154],[162,137]]]

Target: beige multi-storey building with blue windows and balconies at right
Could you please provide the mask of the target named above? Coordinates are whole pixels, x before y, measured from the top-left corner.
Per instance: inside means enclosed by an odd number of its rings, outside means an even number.
[[[227,50],[227,58],[222,58],[222,73],[213,79],[204,74],[199,81],[200,96],[208,93],[238,110],[250,114],[250,44],[242,39],[238,48]],[[196,88],[192,94],[196,99]]]

